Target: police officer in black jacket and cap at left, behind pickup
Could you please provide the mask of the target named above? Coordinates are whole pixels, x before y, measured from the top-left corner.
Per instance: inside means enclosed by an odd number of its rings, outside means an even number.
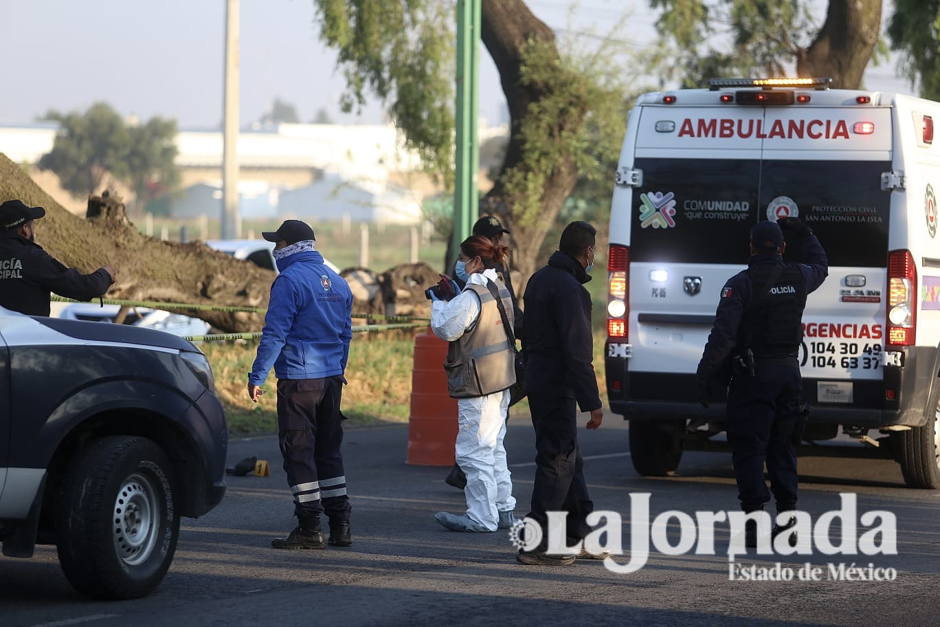
[[[46,210],[22,200],[0,204],[0,306],[28,316],[48,316],[49,293],[90,301],[115,282],[116,271],[103,266],[91,274],[66,268],[36,243],[36,220]]]

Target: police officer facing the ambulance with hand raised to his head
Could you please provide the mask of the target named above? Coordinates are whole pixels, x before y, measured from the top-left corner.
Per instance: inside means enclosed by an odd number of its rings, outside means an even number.
[[[783,261],[781,228],[801,238],[803,263]],[[697,393],[708,407],[730,360],[726,430],[738,498],[744,512],[763,509],[770,500],[763,473],[767,462],[777,520],[784,521],[774,528],[776,535],[795,524],[792,517],[779,514],[796,509],[793,434],[803,393],[797,353],[807,294],[823,284],[828,260],[812,229],[798,218],[758,223],[751,228],[750,250],[747,270],[732,276],[721,290],[712,333],[698,364]],[[746,546],[757,546],[757,536],[756,525],[745,526]]]

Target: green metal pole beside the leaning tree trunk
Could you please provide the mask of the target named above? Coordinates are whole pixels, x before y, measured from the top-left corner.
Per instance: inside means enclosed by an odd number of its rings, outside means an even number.
[[[457,0],[457,154],[453,250],[470,236],[479,213],[480,0]],[[448,263],[450,260],[448,259]]]

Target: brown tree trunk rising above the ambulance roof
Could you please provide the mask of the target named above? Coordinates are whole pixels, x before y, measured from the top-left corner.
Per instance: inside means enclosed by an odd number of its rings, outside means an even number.
[[[831,76],[832,87],[857,89],[881,30],[882,0],[829,0],[825,24],[798,55],[800,76]]]

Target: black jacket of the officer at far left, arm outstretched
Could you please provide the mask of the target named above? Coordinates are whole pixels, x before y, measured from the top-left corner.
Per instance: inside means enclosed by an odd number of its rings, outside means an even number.
[[[0,306],[28,316],[48,316],[50,291],[90,301],[110,285],[111,275],[104,268],[81,274],[56,261],[39,244],[0,231]]]

